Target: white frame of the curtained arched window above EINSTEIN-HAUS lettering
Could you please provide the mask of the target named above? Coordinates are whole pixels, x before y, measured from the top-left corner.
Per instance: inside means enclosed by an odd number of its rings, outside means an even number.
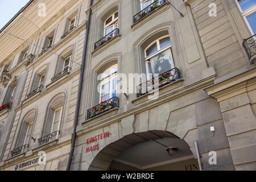
[[[117,64],[115,64],[112,67],[110,67],[109,69],[107,69],[104,73],[106,73],[114,68],[117,68]],[[100,82],[100,103],[105,101],[105,100],[104,101],[101,100],[101,98],[106,96],[106,94],[108,94],[108,93],[105,93],[104,95],[101,95],[102,94],[102,86],[107,84],[108,82],[110,82],[110,84],[109,84],[109,99],[113,98],[113,93],[114,93],[113,91],[115,91],[115,93],[117,94],[117,85],[115,85],[116,88],[113,89],[113,80],[115,80],[115,79],[117,79],[117,71],[101,80],[101,82]]]

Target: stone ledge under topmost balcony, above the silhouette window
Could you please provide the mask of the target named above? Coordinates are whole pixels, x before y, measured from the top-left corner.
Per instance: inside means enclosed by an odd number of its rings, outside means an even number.
[[[163,5],[159,6],[157,9],[155,9],[154,11],[152,11],[151,13],[148,13],[147,15],[145,15],[143,18],[139,19],[137,22],[133,23],[131,25],[131,28],[134,30],[137,30],[139,27],[141,27],[143,24],[145,24],[146,22],[148,22],[149,20],[152,19],[152,16],[157,16],[161,13],[163,13],[163,11],[167,10],[169,8],[168,2],[163,3]]]

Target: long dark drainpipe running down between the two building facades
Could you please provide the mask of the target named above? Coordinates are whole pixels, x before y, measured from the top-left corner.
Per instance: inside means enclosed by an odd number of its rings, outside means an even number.
[[[88,22],[87,22],[87,26],[86,26],[84,52],[82,55],[81,74],[80,74],[80,81],[79,81],[79,93],[78,93],[77,103],[76,103],[76,115],[75,115],[74,130],[73,130],[73,135],[72,135],[71,152],[69,154],[66,171],[70,170],[71,162],[72,162],[72,158],[73,158],[73,154],[74,154],[74,150],[75,150],[76,128],[77,128],[77,122],[78,122],[78,118],[79,118],[80,100],[81,100],[81,93],[82,93],[82,81],[84,79],[85,58],[86,58],[86,52],[87,52],[87,43],[88,43],[88,35],[89,35],[89,27],[90,27],[90,15],[92,14],[92,9],[91,9],[92,3],[93,3],[93,0],[90,0],[90,9],[89,9]]]

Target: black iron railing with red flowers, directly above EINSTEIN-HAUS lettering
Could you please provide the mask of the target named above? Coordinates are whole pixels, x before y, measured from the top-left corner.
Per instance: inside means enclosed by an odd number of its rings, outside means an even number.
[[[101,104],[98,104],[97,106],[94,106],[88,109],[87,119],[94,118],[97,115],[100,115],[102,113],[105,113],[106,111],[109,111],[118,107],[119,107],[119,98],[117,97],[110,98],[110,100],[101,102]]]

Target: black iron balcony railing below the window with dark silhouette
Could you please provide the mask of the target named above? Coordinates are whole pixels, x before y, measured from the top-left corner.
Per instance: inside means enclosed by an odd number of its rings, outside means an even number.
[[[141,97],[147,93],[154,92],[154,89],[156,89],[156,86],[158,88],[161,88],[165,85],[170,84],[171,82],[174,82],[176,80],[179,80],[181,78],[180,71],[177,68],[171,69],[170,71],[163,73],[162,75],[152,78],[152,80],[148,80],[144,82],[143,84],[137,86],[137,97]],[[156,85],[154,82],[158,79],[158,85]]]

